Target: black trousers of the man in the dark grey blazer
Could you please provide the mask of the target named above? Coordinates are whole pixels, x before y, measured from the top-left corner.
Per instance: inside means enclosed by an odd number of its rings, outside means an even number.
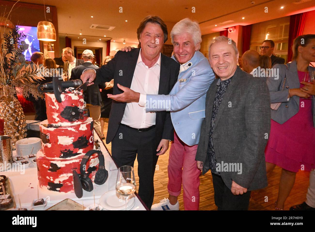
[[[215,205],[218,210],[248,210],[250,191],[242,195],[233,195],[224,183],[221,175],[211,173],[215,190]]]

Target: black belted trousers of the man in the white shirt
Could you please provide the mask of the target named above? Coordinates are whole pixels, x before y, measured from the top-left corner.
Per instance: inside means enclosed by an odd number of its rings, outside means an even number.
[[[133,167],[138,155],[138,194],[149,209],[154,198],[153,178],[158,159],[156,149],[155,128],[139,132],[120,124],[112,140],[112,158],[118,167]]]

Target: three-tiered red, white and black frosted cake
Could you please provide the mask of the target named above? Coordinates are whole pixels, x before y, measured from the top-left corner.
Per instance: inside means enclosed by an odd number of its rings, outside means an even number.
[[[83,92],[74,88],[61,94],[57,102],[54,93],[45,93],[47,120],[40,122],[42,149],[37,152],[39,186],[51,191],[74,192],[72,171],[80,173],[85,153],[93,149],[93,120],[84,116]],[[87,163],[92,181],[98,168],[98,157]]]

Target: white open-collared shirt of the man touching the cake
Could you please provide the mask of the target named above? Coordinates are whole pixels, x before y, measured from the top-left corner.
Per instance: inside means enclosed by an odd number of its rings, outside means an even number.
[[[160,83],[160,67],[161,53],[157,62],[151,68],[149,68],[144,62],[142,62],[140,49],[130,89],[135,92],[145,94],[158,94]],[[155,125],[155,117],[155,113],[146,113],[146,107],[140,106],[137,102],[130,102],[126,104],[121,123],[137,129],[148,128]]]

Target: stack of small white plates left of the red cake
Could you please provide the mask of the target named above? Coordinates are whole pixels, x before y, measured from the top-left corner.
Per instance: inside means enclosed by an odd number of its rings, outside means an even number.
[[[36,154],[41,149],[40,138],[26,138],[18,140],[15,143],[17,156],[28,156],[30,154]]]

